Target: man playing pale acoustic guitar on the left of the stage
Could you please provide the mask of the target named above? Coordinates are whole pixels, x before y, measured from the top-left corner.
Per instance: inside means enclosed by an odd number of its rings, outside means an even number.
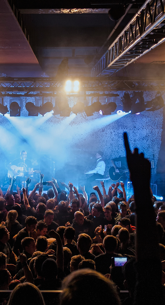
[[[6,168],[13,173],[13,176],[16,177],[16,184],[22,181],[26,181],[26,178],[28,176],[33,175],[32,163],[26,158],[27,153],[25,150],[22,150],[20,153],[20,158],[13,160],[6,166]],[[17,172],[11,168],[12,165],[15,165],[16,167],[21,167],[23,169],[23,175],[21,177],[19,177]]]

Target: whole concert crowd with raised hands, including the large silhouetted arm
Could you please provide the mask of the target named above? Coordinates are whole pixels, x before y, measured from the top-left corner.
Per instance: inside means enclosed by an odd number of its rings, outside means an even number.
[[[149,161],[124,140],[128,200],[122,182],[87,194],[53,179],[46,194],[44,174],[31,192],[29,177],[0,189],[0,290],[12,290],[0,304],[164,304],[165,202],[150,189]]]

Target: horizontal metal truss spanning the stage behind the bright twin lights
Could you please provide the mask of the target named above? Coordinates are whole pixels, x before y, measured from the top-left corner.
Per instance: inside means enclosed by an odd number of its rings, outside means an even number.
[[[78,80],[79,92],[67,94],[68,97],[109,96],[117,91],[165,91],[165,78],[81,77]],[[64,92],[65,81],[51,77],[0,77],[0,97],[55,97]]]

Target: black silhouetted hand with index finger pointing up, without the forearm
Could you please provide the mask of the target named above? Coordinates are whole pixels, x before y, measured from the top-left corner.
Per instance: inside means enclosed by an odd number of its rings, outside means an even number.
[[[143,188],[144,185],[149,187],[151,177],[151,164],[149,160],[144,158],[143,152],[139,154],[138,148],[135,148],[133,153],[131,152],[126,132],[124,133],[124,144],[130,179],[134,188]]]

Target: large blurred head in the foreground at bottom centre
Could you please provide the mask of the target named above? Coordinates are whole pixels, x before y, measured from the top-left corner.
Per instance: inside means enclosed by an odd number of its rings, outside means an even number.
[[[62,290],[61,305],[120,304],[114,285],[95,270],[81,269],[69,274],[62,282]]]

